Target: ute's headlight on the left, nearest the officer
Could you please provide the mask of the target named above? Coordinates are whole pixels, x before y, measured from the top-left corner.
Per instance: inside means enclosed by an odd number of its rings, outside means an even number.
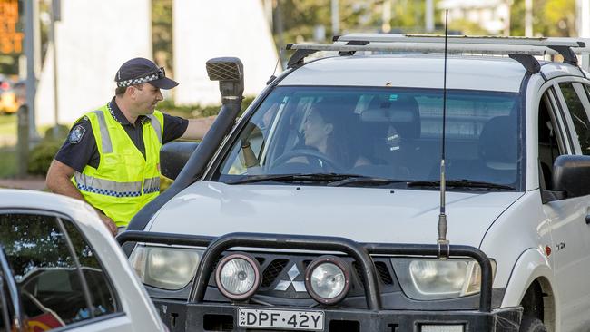
[[[199,265],[202,250],[173,247],[135,247],[129,262],[145,285],[170,290],[189,284]]]

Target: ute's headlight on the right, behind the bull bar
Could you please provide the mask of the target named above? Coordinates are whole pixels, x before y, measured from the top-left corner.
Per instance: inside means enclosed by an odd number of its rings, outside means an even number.
[[[492,278],[496,276],[496,261]],[[458,298],[476,294],[481,288],[481,269],[467,259],[391,259],[401,288],[409,298]]]

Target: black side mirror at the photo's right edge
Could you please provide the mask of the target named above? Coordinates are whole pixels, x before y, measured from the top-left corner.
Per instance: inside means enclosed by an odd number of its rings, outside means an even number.
[[[553,184],[565,198],[590,194],[590,156],[561,155],[553,163]]]

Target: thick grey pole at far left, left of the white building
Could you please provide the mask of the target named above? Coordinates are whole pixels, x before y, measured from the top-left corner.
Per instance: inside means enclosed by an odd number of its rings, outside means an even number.
[[[29,113],[29,138],[39,138],[34,124],[34,96],[37,79],[34,75],[34,0],[25,0],[25,55],[26,55],[26,105]]]

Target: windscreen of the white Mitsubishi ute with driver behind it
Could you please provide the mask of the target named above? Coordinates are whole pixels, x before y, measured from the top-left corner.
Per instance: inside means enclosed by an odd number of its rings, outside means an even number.
[[[442,90],[279,87],[261,103],[215,180],[399,186],[438,181]],[[517,93],[447,91],[447,180],[518,189]],[[360,180],[359,180],[360,179]],[[427,183],[424,183],[427,184]]]

